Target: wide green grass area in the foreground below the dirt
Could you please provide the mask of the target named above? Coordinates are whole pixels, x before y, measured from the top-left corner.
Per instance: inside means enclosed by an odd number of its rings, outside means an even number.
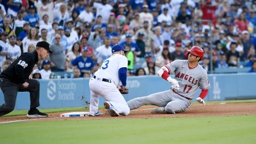
[[[0,124],[1,143],[255,143],[256,116]]]

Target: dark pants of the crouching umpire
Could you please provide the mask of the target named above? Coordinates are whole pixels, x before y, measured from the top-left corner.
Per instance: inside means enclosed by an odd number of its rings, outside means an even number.
[[[30,93],[30,108],[39,106],[39,82],[36,79],[28,79],[27,83],[29,83],[28,87],[24,88],[22,84],[15,84],[7,78],[0,78],[0,87],[4,93],[5,101],[5,103],[0,106],[0,116],[13,111],[18,91]]]

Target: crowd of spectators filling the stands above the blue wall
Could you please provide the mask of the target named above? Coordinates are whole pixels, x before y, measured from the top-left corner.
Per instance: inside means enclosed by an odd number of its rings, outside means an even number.
[[[256,72],[256,1],[253,0],[0,0],[0,67],[8,67],[39,41],[51,44],[33,77],[92,77],[111,46],[129,52],[128,75],[156,75],[202,47],[200,65],[251,67]],[[212,65],[210,63],[212,62]],[[212,66],[212,67],[211,67]]]

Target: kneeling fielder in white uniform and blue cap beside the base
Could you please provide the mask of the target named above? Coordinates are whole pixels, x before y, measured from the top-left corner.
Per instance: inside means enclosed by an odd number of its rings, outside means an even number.
[[[91,100],[89,116],[100,115],[100,111],[98,111],[99,95],[106,100],[104,106],[111,116],[127,116],[130,113],[130,108],[118,90],[121,88],[126,89],[128,60],[124,53],[127,51],[119,44],[114,45],[111,51],[111,57],[102,63],[101,67],[90,79]],[[119,81],[122,82],[122,86],[119,86]]]

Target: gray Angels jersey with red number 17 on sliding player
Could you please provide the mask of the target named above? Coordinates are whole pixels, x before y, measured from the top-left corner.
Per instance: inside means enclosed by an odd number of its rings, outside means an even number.
[[[178,94],[193,99],[198,89],[205,90],[211,87],[206,70],[198,65],[195,68],[188,67],[188,60],[175,60],[166,65],[174,79],[179,82]]]

